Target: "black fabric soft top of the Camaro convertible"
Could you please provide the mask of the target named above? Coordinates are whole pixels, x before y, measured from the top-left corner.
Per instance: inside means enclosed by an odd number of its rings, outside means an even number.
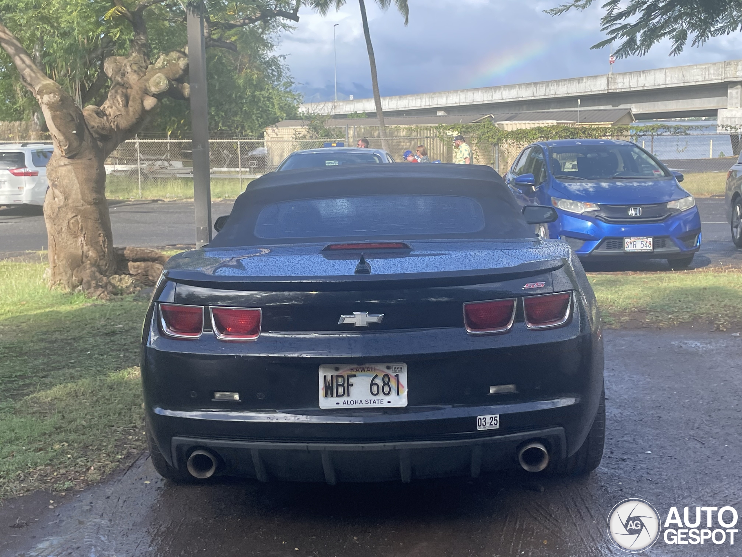
[[[307,200],[322,203],[326,200],[348,200],[369,196],[374,198],[398,196],[400,203],[407,203],[408,206],[410,200],[414,204],[416,198],[424,201],[434,196],[439,203],[435,207],[437,211],[435,214],[442,217],[439,232],[436,232],[437,225],[433,222],[431,224],[433,230],[424,234],[400,233],[399,237],[395,238],[397,240],[533,237],[533,227],[525,223],[520,207],[508,186],[490,166],[425,163],[359,164],[271,172],[253,180],[234,202],[229,220],[208,248],[351,239],[389,240],[389,232],[384,234],[349,232],[340,236],[335,233],[318,236],[296,232],[292,236],[295,227],[292,227],[291,223],[285,227],[275,220],[266,223],[270,215],[286,215],[286,211],[280,212],[280,209],[285,209],[287,204],[291,204],[287,202],[296,201],[296,205],[301,205]],[[445,203],[447,199],[451,201],[450,211],[446,211],[445,207],[441,210],[440,203]],[[476,209],[471,209],[471,206],[476,206]],[[279,209],[275,209],[276,207]],[[323,206],[320,207],[322,209]],[[263,212],[263,209],[266,211]],[[451,222],[458,218],[462,221],[471,220],[472,210],[478,212],[475,216],[481,215],[482,225],[478,229],[473,227],[456,231],[450,226]],[[325,221],[329,220],[327,217],[323,218]],[[392,229],[393,224],[391,223]],[[260,230],[264,229],[271,231],[278,229],[278,235],[274,232],[270,232],[272,235],[261,233]]]

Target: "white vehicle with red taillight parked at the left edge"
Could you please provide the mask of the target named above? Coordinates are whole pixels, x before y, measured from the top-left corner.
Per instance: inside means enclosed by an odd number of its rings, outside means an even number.
[[[51,143],[0,145],[0,206],[44,204],[46,165],[53,151]]]

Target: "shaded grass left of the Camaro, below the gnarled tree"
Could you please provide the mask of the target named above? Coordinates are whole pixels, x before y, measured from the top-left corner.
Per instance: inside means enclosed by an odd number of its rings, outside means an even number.
[[[144,446],[146,303],[48,290],[45,267],[0,261],[0,498],[97,481]]]

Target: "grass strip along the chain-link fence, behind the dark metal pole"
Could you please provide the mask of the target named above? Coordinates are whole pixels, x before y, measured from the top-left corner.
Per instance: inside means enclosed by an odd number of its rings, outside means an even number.
[[[212,199],[234,199],[244,191],[252,179],[243,178],[240,189],[239,178],[211,178]],[[139,195],[137,177],[108,176],[105,183],[108,199],[193,199],[193,178],[152,177],[142,180],[142,195]]]

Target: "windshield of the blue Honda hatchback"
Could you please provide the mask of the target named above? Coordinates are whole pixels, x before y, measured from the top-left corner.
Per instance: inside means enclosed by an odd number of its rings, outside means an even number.
[[[661,178],[669,174],[634,145],[614,143],[549,147],[551,173],[557,180]]]

